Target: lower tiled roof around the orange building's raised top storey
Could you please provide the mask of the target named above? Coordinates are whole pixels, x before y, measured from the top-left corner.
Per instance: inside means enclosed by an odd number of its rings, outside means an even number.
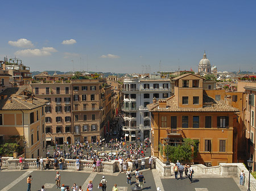
[[[160,99],[160,101],[163,100]],[[166,108],[159,108],[159,101],[155,104],[148,104],[147,108],[151,112],[239,112],[237,108],[216,101],[207,95],[203,96],[203,105],[203,108],[179,108],[174,95],[166,99]]]

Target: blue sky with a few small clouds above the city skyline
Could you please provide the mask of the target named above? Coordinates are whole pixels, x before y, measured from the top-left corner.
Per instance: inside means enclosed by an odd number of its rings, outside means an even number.
[[[16,56],[31,71],[139,73],[150,65],[153,73],[160,60],[162,71],[197,70],[205,50],[220,71],[256,71],[255,7],[253,0],[5,1],[0,60]]]

